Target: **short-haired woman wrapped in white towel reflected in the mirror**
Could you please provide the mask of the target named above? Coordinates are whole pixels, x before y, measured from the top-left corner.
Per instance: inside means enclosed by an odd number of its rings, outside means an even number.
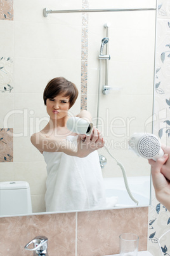
[[[63,77],[49,81],[44,90],[44,104],[49,122],[31,136],[31,142],[47,164],[46,211],[85,210],[105,207],[105,191],[96,150],[104,146],[98,129],[90,136],[67,129],[68,111],[78,90]],[[88,111],[77,115],[91,121]]]

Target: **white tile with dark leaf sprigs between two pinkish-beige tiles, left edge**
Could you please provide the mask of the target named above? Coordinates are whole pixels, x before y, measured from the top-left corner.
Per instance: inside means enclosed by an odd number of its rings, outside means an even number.
[[[13,60],[0,57],[0,92],[11,92],[13,89]]]

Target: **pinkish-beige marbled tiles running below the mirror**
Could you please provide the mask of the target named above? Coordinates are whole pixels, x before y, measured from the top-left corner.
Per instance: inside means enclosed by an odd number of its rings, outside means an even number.
[[[48,237],[50,256],[103,256],[119,253],[119,234],[140,236],[139,250],[147,250],[148,208],[88,211],[0,218],[0,255],[29,256],[23,247],[34,237]]]

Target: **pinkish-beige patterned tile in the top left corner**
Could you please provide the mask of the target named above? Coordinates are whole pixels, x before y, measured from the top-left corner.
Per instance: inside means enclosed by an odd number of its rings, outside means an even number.
[[[13,0],[0,0],[0,20],[13,20]]]

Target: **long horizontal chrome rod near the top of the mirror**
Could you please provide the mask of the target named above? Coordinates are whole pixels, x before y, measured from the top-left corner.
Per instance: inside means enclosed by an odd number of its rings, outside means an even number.
[[[156,8],[121,8],[121,9],[80,9],[80,10],[47,10],[44,8],[44,17],[48,17],[49,13],[86,13],[86,12],[101,12],[101,11],[155,11]]]

